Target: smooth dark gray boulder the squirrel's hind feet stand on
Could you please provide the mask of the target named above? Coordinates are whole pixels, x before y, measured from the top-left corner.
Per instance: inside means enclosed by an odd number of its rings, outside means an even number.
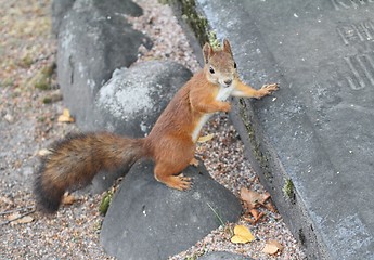
[[[221,221],[237,221],[241,203],[204,166],[189,167],[183,173],[193,178],[193,187],[186,192],[157,182],[151,161],[140,160],[131,168],[101,230],[101,244],[109,255],[164,260],[195,245]]]

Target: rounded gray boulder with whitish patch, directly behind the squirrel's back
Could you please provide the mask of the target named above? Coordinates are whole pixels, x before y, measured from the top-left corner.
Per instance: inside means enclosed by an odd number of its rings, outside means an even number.
[[[175,62],[142,62],[115,70],[96,95],[99,129],[142,138],[192,73]]]

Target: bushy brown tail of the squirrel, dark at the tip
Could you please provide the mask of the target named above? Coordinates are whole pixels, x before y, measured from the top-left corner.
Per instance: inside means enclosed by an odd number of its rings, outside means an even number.
[[[38,207],[53,213],[66,190],[87,185],[101,170],[131,167],[145,156],[144,139],[113,133],[70,134],[42,158],[35,181]]]

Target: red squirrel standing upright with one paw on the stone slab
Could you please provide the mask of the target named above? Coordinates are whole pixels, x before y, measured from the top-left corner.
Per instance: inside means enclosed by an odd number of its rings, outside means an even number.
[[[130,139],[94,132],[69,135],[55,143],[42,158],[35,181],[39,208],[53,213],[66,190],[86,185],[101,170],[130,167],[142,157],[154,160],[157,181],[180,191],[189,190],[191,178],[181,172],[195,160],[196,142],[209,117],[230,110],[230,95],[259,99],[278,89],[276,83],[259,90],[243,83],[227,39],[220,50],[205,43],[203,55],[204,68],[176,93],[147,136]]]

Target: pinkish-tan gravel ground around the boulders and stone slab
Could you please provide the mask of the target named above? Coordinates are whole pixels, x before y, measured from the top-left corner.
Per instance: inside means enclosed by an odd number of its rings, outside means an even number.
[[[196,72],[198,65],[171,10],[156,0],[137,2],[144,15],[128,20],[155,43],[150,52],[141,50],[140,60],[176,60]],[[0,259],[113,259],[99,244],[102,195],[79,196],[73,206],[62,207],[52,217],[34,212],[31,184],[38,152],[77,127],[57,121],[63,103],[53,70],[56,41],[50,35],[51,1],[0,0]],[[197,155],[211,176],[237,196],[241,187],[263,194],[227,116],[215,117],[204,131],[215,133],[215,138],[199,144]],[[232,244],[227,231],[234,224],[227,224],[171,259],[195,259],[216,250],[254,259],[305,259],[282,217],[267,209],[261,211],[266,214],[256,225],[245,216],[240,220],[256,240]],[[9,222],[20,214],[26,218]],[[283,251],[275,256],[263,253],[269,239],[280,242]]]

